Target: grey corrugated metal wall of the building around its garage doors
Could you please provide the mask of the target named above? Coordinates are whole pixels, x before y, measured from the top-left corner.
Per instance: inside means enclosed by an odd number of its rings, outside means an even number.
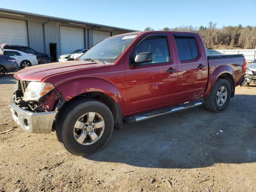
[[[49,21],[46,19],[33,18],[29,16],[19,17],[19,16],[0,14],[0,19],[1,17],[18,19],[18,20],[26,20],[27,26],[28,26],[29,46],[38,52],[45,52],[47,54],[50,54],[49,43],[57,43],[58,57],[60,56],[60,25],[76,27],[76,28],[84,28],[85,29],[84,30],[85,31],[85,34],[84,34],[85,48],[92,47],[92,27],[72,25],[64,22]],[[44,29],[43,29],[43,24],[44,24]],[[112,36],[125,33],[125,31],[122,31],[122,30],[107,30],[102,28],[94,28],[94,29],[111,32]],[[44,41],[44,36],[45,36],[45,41]]]

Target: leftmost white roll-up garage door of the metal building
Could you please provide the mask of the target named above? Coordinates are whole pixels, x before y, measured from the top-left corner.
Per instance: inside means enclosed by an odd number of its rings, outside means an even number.
[[[0,44],[28,46],[26,21],[0,18]]]

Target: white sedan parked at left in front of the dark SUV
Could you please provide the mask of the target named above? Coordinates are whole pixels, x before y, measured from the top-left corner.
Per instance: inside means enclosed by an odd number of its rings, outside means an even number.
[[[27,54],[27,53],[24,53],[18,50],[12,50],[12,49],[4,49],[4,54],[6,56],[16,59],[16,62],[18,63],[18,66],[20,68],[26,68],[26,67],[38,64],[36,55],[33,55],[33,54]]]

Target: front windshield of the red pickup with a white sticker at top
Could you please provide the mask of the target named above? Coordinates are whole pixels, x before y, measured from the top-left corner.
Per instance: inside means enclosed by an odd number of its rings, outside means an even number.
[[[107,38],[90,48],[79,60],[95,59],[104,63],[113,63],[136,36],[138,35],[122,35]]]

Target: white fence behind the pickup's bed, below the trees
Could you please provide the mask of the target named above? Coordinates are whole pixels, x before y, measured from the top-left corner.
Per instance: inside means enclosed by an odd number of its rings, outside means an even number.
[[[256,49],[208,49],[207,54],[244,54],[247,61],[253,61],[256,59]]]

